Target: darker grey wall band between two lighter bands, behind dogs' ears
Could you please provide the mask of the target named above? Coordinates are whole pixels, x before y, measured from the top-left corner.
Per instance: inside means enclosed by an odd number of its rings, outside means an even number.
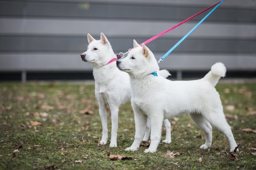
[[[127,51],[132,48],[132,38],[108,37],[113,50]],[[136,39],[143,42],[145,39]],[[179,39],[156,39],[147,44],[153,52],[167,52]],[[120,43],[122,42],[122,43]],[[0,36],[0,51],[55,51],[74,52],[78,54],[86,50],[86,37],[22,37],[22,36]],[[216,40],[216,39],[187,39],[175,52],[246,52],[256,53],[256,41],[251,40]]]

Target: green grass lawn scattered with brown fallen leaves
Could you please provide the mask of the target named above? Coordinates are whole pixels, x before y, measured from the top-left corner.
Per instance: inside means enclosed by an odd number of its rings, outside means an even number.
[[[110,139],[107,145],[98,146],[102,128],[94,85],[2,83],[0,169],[44,169],[45,165],[54,165],[56,169],[255,169],[256,156],[252,152],[256,151],[248,148],[256,147],[256,134],[246,133],[242,129],[256,129],[256,115],[249,114],[256,110],[256,86],[219,84],[216,89],[224,107],[235,107],[233,111],[225,110],[225,113],[237,115],[237,120],[227,119],[236,142],[241,144],[237,162],[220,152],[229,151],[229,144],[227,138],[216,129],[213,129],[211,149],[199,149],[204,144],[204,138],[196,136],[200,133],[204,137],[204,134],[188,115],[180,116],[179,121],[172,124],[172,143],[160,143],[156,153],[144,153],[145,146],[136,152],[125,152],[124,149],[132,144],[135,132],[129,102],[122,105],[119,111],[118,147],[110,148]],[[42,105],[54,108],[45,110]],[[94,114],[79,113],[85,108],[94,111]],[[44,112],[48,115],[41,114]],[[42,125],[31,127],[30,121],[39,121]],[[109,137],[110,122],[108,116]],[[164,138],[163,135],[162,140]],[[13,152],[17,149],[19,152]],[[164,154],[168,150],[180,152],[180,155],[166,158]],[[112,161],[108,158],[109,154],[133,159]],[[202,162],[199,162],[200,157]],[[76,163],[76,160],[82,162]]]

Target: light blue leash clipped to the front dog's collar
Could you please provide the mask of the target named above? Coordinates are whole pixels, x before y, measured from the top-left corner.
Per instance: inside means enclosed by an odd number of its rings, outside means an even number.
[[[167,53],[165,53],[165,55],[163,55],[159,61],[157,61],[157,63],[160,63],[160,61],[163,61],[165,57],[167,57],[176,47],[178,47],[180,45],[180,43],[182,41],[184,41],[188,35],[190,35],[223,1],[222,0],[218,5],[216,5],[212,11],[210,11],[198,24],[196,24],[196,26],[194,26],[194,28],[192,28],[179,42],[177,42],[177,44],[175,44]]]

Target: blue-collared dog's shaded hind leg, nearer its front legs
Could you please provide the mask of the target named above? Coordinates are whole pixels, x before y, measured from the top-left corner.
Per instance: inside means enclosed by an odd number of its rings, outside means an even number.
[[[190,113],[189,117],[193,122],[203,130],[205,135],[205,144],[201,145],[201,149],[210,148],[212,145],[212,126],[201,114]]]

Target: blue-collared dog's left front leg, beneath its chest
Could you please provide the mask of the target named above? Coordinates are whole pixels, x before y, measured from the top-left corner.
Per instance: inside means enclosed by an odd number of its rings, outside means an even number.
[[[126,148],[125,151],[137,151],[139,149],[142,137],[146,129],[147,116],[141,112],[137,112],[137,109],[134,109],[134,120],[135,120],[135,136],[134,141],[131,147]]]

